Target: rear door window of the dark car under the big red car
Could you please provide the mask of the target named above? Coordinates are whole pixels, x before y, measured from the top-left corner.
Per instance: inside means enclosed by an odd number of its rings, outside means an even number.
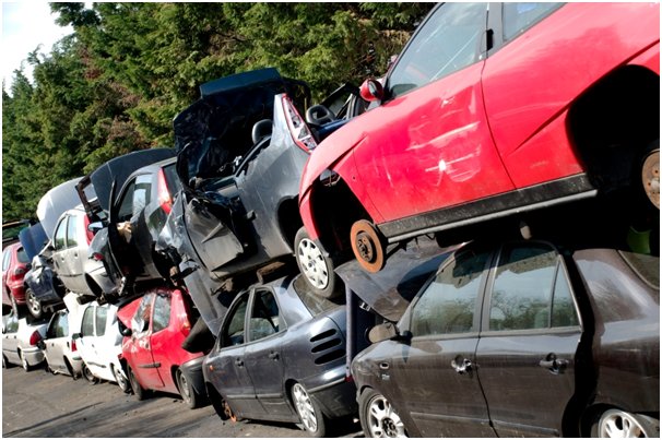
[[[561,269],[558,253],[548,245],[504,247],[493,285],[489,330],[547,329],[572,321],[568,313],[575,313],[574,305]]]

